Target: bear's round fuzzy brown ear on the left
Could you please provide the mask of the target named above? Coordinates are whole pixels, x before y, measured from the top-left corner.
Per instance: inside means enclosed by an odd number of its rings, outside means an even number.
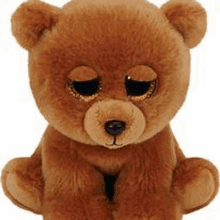
[[[39,0],[22,3],[11,17],[14,37],[24,49],[31,49],[44,31],[58,22],[60,11]]]

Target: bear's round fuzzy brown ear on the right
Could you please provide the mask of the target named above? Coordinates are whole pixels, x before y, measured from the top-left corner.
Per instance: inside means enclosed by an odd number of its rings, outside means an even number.
[[[189,48],[197,46],[207,29],[205,9],[194,0],[170,0],[162,5],[169,22],[183,36]]]

